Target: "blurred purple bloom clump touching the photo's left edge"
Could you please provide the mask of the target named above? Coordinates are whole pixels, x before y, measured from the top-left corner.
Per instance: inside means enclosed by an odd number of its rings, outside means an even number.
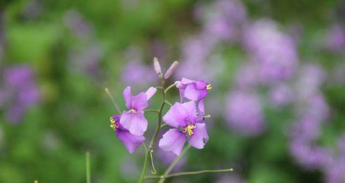
[[[28,108],[39,101],[34,72],[28,66],[8,67],[3,72],[3,87],[0,89],[0,107],[4,107],[9,122],[17,123]]]

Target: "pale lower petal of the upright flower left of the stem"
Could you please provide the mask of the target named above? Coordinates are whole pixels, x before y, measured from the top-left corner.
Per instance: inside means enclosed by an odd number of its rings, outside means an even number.
[[[135,136],[144,135],[148,128],[148,120],[146,120],[143,111],[137,111],[137,114],[124,111],[120,118],[120,124]]]

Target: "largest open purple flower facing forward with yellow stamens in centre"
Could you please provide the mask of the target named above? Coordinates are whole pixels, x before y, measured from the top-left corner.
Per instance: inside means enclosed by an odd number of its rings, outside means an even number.
[[[197,107],[194,101],[172,105],[163,120],[174,128],[164,133],[163,138],[159,140],[159,147],[164,151],[172,151],[179,155],[184,142],[188,140],[191,146],[203,149],[208,141],[208,134],[205,123],[197,119]]]

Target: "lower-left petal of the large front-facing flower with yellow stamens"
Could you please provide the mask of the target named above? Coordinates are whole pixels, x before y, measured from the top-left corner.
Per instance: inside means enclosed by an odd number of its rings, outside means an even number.
[[[184,133],[178,129],[169,129],[166,133],[164,133],[163,138],[159,140],[158,145],[164,151],[172,151],[172,153],[179,155],[186,140],[187,138]]]

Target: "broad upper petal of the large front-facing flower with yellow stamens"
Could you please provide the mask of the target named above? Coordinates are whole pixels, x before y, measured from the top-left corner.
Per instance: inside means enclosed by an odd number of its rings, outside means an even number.
[[[183,104],[175,103],[170,107],[166,115],[163,116],[164,122],[175,128],[178,128],[179,126],[185,127],[188,125],[186,123],[187,118],[192,122],[195,122],[197,118],[197,109],[194,101]]]

